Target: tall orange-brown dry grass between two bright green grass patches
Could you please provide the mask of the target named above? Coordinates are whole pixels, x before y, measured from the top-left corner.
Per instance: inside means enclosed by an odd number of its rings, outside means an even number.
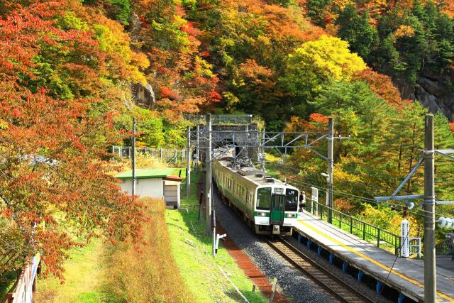
[[[124,302],[194,302],[187,293],[170,252],[165,204],[143,198],[149,221],[143,226],[145,245],[121,243],[111,255],[109,292]]]

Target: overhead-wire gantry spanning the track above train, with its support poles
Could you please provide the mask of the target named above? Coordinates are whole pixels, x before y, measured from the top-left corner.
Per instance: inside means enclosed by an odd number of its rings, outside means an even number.
[[[252,121],[252,119],[250,119]],[[226,126],[226,125],[224,125]],[[319,157],[327,162],[327,198],[326,204],[329,209],[333,209],[333,143],[336,139],[350,138],[342,136],[334,136],[334,120],[328,119],[328,132],[275,132],[259,130],[258,128],[250,129],[248,125],[243,126],[243,130],[213,130],[211,125],[211,114],[206,115],[206,124],[198,124],[196,128],[188,128],[187,138],[188,150],[194,146],[194,167],[199,167],[199,162],[202,160],[201,150],[205,151],[205,166],[206,166],[206,223],[207,233],[211,233],[209,226],[211,225],[210,217],[212,215],[212,199],[211,199],[211,161],[215,160],[214,149],[225,145],[231,145],[236,148],[236,160],[248,158],[248,150],[253,149],[256,152],[256,162],[262,165],[265,170],[265,150],[275,149],[284,158],[287,158],[289,149],[304,148],[311,150]],[[328,141],[327,155],[323,155],[314,148],[314,144],[326,139]],[[250,160],[250,159],[249,159]],[[190,171],[191,163],[187,162],[187,170]],[[189,182],[189,181],[187,181]],[[208,184],[209,183],[209,184]],[[187,184],[189,186],[189,184]],[[332,212],[328,214],[328,221],[332,222]]]

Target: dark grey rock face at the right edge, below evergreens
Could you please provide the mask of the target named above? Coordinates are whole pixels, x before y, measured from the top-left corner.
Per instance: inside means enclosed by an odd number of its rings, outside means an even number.
[[[423,75],[416,85],[397,80],[403,99],[418,100],[431,113],[441,112],[454,121],[454,75]]]

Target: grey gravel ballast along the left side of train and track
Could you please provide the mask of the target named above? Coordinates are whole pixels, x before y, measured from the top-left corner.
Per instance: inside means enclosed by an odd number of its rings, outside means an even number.
[[[214,191],[216,219],[220,222],[227,236],[248,254],[249,258],[267,277],[277,278],[277,289],[292,302],[336,302],[325,290],[314,284],[301,271],[294,268],[287,260],[262,243],[248,226],[228,205],[223,204]]]

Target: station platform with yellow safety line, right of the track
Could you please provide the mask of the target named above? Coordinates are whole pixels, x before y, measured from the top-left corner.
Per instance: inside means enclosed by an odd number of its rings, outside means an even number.
[[[294,231],[308,238],[311,243],[344,261],[345,266],[353,266],[377,280],[377,292],[387,285],[400,293],[399,302],[404,296],[416,302],[424,301],[424,265],[422,260],[397,258],[372,243],[328,224],[326,221],[303,211]],[[454,272],[436,268],[437,301],[454,302]]]

